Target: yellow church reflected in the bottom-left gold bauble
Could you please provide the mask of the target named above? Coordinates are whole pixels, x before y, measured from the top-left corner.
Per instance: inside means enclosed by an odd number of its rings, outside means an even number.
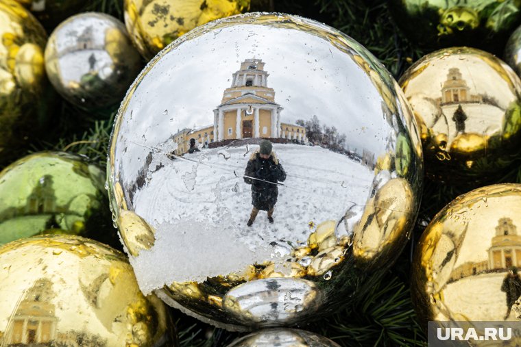
[[[38,279],[27,290],[10,318],[5,331],[6,344],[48,344],[56,339],[58,318],[51,303],[54,295],[52,283],[47,279]]]

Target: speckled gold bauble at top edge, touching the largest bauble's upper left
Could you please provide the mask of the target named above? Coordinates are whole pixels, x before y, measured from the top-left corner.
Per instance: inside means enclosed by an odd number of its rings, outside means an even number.
[[[247,11],[250,0],[125,0],[124,7],[132,41],[151,60],[191,29]]]

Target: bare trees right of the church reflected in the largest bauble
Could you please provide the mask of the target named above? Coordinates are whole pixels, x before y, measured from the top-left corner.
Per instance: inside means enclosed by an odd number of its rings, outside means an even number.
[[[346,135],[339,134],[335,126],[320,126],[320,121],[315,115],[311,120],[299,119],[298,125],[306,128],[306,136],[313,144],[320,144],[334,152],[343,153],[346,151]]]

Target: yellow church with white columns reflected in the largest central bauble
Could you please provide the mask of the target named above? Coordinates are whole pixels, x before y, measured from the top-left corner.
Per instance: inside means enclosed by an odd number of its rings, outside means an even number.
[[[241,138],[284,138],[306,140],[300,125],[282,123],[282,107],[275,102],[275,91],[267,86],[269,74],[264,62],[247,59],[232,75],[232,86],[223,93],[221,105],[214,112],[213,125],[182,129],[174,134],[176,154],[186,153],[193,138],[199,144]]]

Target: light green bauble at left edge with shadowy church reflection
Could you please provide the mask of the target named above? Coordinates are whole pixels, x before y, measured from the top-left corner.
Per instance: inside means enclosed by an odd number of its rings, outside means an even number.
[[[104,170],[62,152],[27,155],[0,172],[0,245],[45,233],[119,246]]]

